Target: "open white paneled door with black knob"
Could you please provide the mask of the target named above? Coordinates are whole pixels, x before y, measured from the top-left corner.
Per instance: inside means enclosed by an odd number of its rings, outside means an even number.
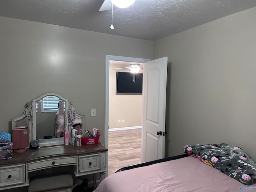
[[[142,162],[164,158],[167,57],[143,67]]]

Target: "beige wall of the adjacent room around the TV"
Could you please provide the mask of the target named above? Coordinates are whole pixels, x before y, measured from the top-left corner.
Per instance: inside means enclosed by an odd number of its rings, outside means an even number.
[[[128,69],[113,70],[121,67],[120,64],[110,64],[109,129],[142,125],[142,94],[116,95],[116,71],[128,72]]]

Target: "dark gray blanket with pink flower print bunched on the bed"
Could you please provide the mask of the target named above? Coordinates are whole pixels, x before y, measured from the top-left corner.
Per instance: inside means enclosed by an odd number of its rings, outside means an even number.
[[[237,146],[225,143],[186,145],[184,153],[199,158],[243,184],[256,183],[256,162]]]

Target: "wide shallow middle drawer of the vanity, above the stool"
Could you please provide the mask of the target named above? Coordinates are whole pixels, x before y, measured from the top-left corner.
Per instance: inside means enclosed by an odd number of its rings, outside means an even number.
[[[51,158],[47,160],[31,162],[28,163],[28,171],[45,169],[54,166],[65,166],[70,164],[76,164],[76,156],[64,158]]]

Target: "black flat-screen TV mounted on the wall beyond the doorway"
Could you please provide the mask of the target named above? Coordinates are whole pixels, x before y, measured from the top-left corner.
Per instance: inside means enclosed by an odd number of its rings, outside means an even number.
[[[116,94],[142,94],[142,73],[116,72]]]

